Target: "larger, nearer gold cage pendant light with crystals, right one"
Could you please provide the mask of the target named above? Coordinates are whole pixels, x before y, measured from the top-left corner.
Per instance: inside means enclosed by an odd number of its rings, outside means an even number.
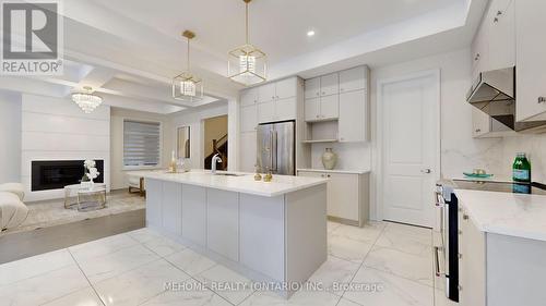
[[[248,34],[248,3],[245,2],[245,45],[229,51],[227,60],[227,75],[233,81],[245,86],[262,83],[266,79],[266,56],[263,51],[249,42]]]

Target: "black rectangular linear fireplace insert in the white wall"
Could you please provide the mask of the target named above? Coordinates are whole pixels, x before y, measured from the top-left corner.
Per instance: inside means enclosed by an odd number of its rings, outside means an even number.
[[[93,180],[104,183],[104,160],[95,160],[100,175]],[[79,184],[83,178],[84,160],[35,160],[32,161],[33,192],[60,189],[67,185]]]

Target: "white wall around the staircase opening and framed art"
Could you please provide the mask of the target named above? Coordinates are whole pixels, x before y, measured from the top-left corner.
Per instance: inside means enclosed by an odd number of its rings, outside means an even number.
[[[203,120],[206,118],[218,117],[223,114],[228,114],[228,103],[218,103],[217,106],[212,106],[207,108],[199,108],[197,110],[189,110],[187,112],[182,112],[180,114],[174,114],[170,117],[173,136],[171,142],[176,144],[176,130],[179,126],[190,126],[190,158],[189,162],[191,168],[193,169],[202,169],[204,167],[204,128],[203,128]],[[236,144],[232,142],[233,139],[233,118],[232,113],[228,114],[228,147],[233,148]],[[234,157],[233,150],[228,150],[229,162],[228,167]]]

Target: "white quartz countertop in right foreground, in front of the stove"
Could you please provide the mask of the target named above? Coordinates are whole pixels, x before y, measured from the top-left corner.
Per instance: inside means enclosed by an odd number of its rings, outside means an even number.
[[[468,189],[455,195],[480,231],[546,241],[546,196]]]

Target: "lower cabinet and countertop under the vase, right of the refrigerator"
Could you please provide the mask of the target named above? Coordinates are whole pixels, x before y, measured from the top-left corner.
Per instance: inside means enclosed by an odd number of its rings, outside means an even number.
[[[369,216],[368,173],[298,170],[298,175],[330,179],[328,183],[328,216],[334,220],[364,225]]]

